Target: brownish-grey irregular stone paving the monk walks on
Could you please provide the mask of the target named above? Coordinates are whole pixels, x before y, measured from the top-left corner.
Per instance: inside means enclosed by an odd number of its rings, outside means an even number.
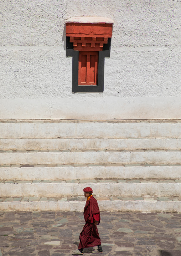
[[[72,255],[83,225],[78,212],[0,212],[0,256]],[[181,214],[101,212],[98,230],[103,255],[181,256]]]

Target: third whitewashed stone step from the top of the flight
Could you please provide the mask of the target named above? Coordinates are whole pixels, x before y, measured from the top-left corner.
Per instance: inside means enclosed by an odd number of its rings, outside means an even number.
[[[34,164],[181,164],[181,152],[29,152],[0,153],[0,165]]]

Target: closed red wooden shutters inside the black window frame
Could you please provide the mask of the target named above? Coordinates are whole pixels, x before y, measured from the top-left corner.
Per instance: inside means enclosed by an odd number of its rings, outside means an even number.
[[[79,51],[79,85],[97,85],[98,51]]]

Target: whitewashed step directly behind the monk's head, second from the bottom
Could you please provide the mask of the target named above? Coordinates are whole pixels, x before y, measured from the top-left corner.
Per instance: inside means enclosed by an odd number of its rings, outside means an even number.
[[[175,180],[142,181],[140,180],[80,180],[80,183],[59,181],[15,181],[0,183],[1,197],[67,197],[82,196],[85,187],[91,187],[96,196],[120,197],[180,197],[181,183]]]

